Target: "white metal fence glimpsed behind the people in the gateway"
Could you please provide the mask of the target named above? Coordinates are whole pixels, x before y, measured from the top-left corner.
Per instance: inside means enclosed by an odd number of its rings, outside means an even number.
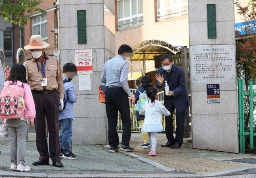
[[[131,89],[132,94],[135,94],[137,89]],[[163,103],[163,99],[164,99],[164,91],[161,91],[159,93],[157,93],[158,96],[158,101],[160,101],[161,103]],[[132,132],[141,132],[141,125],[140,122],[138,122],[136,120],[136,104],[133,104],[131,99],[129,99],[129,103],[130,103],[130,114],[131,114],[131,120],[132,120]],[[174,119],[174,130],[176,128],[176,122],[175,122],[175,113],[173,116]],[[162,125],[165,131],[165,117],[162,116]],[[121,121],[121,115],[118,112],[118,120],[117,120],[117,131],[122,132],[122,121]]]

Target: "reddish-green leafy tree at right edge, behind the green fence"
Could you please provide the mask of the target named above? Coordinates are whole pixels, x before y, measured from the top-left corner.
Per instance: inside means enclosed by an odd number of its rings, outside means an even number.
[[[242,7],[239,3],[235,3],[238,8],[238,14],[244,22],[243,29],[245,35],[241,35],[236,31],[236,66],[237,77],[243,78],[245,81],[246,92],[249,92],[249,80],[256,76],[256,20],[255,5],[256,2],[251,1],[250,6]],[[250,8],[252,7],[252,8]],[[245,131],[249,130],[249,96],[245,97]],[[254,107],[255,109],[255,107]]]

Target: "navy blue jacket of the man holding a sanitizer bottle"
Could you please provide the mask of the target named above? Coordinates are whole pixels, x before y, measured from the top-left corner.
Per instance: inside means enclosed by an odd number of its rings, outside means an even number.
[[[165,95],[164,102],[168,103],[168,105],[174,104],[177,113],[186,110],[188,107],[188,99],[185,89],[185,76],[183,70],[178,66],[172,65],[169,74],[167,71],[163,70],[163,67],[158,68],[157,73],[161,74],[161,76],[163,75],[164,83],[160,86],[159,82],[156,81],[156,87],[165,87],[165,81],[167,81],[170,91],[174,92],[174,96],[169,97]]]

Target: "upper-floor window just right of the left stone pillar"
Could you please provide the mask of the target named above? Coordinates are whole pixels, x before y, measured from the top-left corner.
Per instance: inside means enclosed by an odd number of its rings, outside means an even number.
[[[143,0],[117,0],[117,29],[143,23]]]

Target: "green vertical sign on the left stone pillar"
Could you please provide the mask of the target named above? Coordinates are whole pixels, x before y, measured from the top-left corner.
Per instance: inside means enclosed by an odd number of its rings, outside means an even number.
[[[78,44],[86,44],[86,19],[85,10],[77,11],[77,38]]]

